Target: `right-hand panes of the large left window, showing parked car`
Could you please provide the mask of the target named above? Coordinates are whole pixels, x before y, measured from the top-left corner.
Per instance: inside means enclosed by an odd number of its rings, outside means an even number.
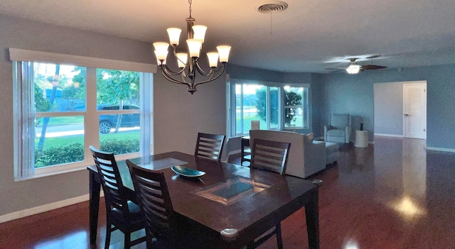
[[[100,150],[122,155],[140,149],[139,72],[97,69]]]

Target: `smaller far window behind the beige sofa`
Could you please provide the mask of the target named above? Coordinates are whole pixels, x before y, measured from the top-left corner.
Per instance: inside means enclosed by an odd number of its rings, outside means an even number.
[[[259,121],[263,130],[309,128],[307,84],[231,79],[229,91],[230,136],[248,134],[251,121]]]

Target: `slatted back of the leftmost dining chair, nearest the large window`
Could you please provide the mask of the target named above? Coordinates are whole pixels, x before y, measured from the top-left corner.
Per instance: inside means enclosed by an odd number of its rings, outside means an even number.
[[[107,209],[118,209],[124,215],[129,212],[127,198],[124,194],[122,177],[113,153],[107,153],[90,146],[93,160],[101,176],[105,200],[108,204]]]

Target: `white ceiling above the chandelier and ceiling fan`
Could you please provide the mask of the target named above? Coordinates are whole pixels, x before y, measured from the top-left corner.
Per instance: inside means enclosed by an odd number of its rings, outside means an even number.
[[[196,24],[208,26],[204,50],[229,44],[232,64],[282,72],[331,72],[325,68],[360,55],[383,55],[360,64],[389,68],[455,63],[455,0],[287,0],[281,13],[256,11],[266,2],[193,0]],[[152,43],[167,41],[166,28],[186,30],[188,6],[185,0],[0,0],[0,13]]]

